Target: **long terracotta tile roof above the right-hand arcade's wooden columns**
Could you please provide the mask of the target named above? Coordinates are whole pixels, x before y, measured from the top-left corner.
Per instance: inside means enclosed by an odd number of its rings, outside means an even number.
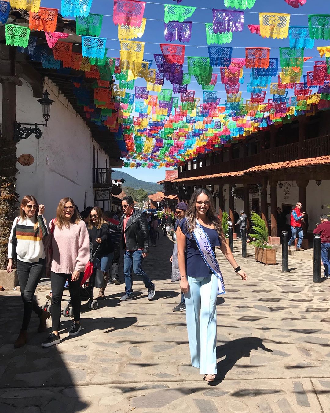
[[[303,166],[317,166],[317,165],[329,165],[330,164],[330,155],[320,156],[316,158],[307,158],[307,159],[297,159],[295,161],[285,161],[285,162],[276,162],[273,164],[266,165],[257,165],[253,168],[247,169],[246,171],[236,171],[236,172],[223,172],[216,173],[213,175],[201,175],[201,176],[192,176],[191,178],[180,178],[175,179],[175,182],[191,182],[196,180],[205,180],[213,178],[231,178],[238,176],[245,176],[256,172],[266,172],[266,171],[277,171],[279,169],[292,169],[292,168],[301,168]]]

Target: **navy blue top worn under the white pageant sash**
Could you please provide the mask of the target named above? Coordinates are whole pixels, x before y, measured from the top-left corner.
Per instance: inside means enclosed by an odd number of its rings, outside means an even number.
[[[182,233],[186,236],[186,274],[189,275],[189,277],[194,278],[209,277],[212,274],[212,271],[203,261],[193,234],[190,234],[187,231],[186,223],[186,218],[181,219],[179,223]],[[214,251],[215,247],[219,247],[221,245],[219,234],[212,228],[206,228],[203,226],[203,230],[207,234]]]

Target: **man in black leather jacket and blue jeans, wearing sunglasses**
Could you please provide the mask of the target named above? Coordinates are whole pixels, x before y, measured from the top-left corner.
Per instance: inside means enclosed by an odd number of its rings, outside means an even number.
[[[121,202],[124,215],[121,216],[119,225],[109,222],[112,230],[121,233],[121,244],[125,249],[124,255],[124,275],[125,275],[125,294],[120,301],[133,299],[133,272],[139,275],[148,290],[148,300],[155,296],[156,286],[142,269],[142,260],[149,254],[149,230],[146,217],[141,212],[134,209],[132,197],[124,197]]]

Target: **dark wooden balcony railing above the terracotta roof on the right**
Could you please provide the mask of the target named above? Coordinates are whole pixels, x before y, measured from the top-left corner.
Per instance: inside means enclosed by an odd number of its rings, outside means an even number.
[[[201,168],[191,169],[190,171],[179,172],[179,178],[213,175],[223,172],[245,171],[257,165],[294,161],[295,159],[299,159],[298,152],[298,142],[291,143],[289,145],[278,146],[273,149],[266,149],[263,152],[245,158],[232,159],[231,161],[221,162],[219,164],[208,165]],[[302,154],[302,159],[329,155],[329,135],[306,139],[304,141]]]

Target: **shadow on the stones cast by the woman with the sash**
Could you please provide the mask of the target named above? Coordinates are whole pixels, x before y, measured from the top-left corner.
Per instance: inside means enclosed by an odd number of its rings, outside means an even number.
[[[217,363],[217,381],[209,382],[209,384],[218,385],[240,358],[250,357],[251,350],[257,349],[262,349],[268,353],[273,352],[273,350],[267,349],[262,343],[262,339],[258,337],[243,337],[218,346],[217,358],[225,358]]]

